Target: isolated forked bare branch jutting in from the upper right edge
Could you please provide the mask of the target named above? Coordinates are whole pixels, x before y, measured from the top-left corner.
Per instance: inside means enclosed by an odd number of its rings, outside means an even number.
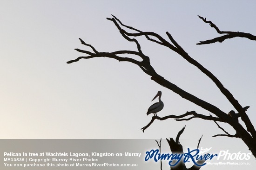
[[[202,45],[202,44],[212,44],[212,43],[216,43],[216,42],[220,42],[222,43],[225,39],[229,39],[229,38],[235,38],[235,37],[241,37],[241,38],[248,38],[250,40],[256,40],[256,36],[249,34],[249,33],[245,33],[245,32],[234,32],[234,31],[220,31],[220,29],[211,21],[207,21],[206,18],[203,18],[201,16],[198,15],[198,17],[200,19],[203,20],[203,22],[205,23],[209,23],[209,25],[211,27],[213,27],[219,34],[227,34],[227,35],[223,35],[221,37],[217,37],[217,38],[213,38],[213,39],[209,39],[206,41],[200,41],[200,43],[197,43],[197,45]]]

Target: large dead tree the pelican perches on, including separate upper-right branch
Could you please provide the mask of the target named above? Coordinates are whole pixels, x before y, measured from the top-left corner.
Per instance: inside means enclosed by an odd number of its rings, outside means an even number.
[[[211,44],[215,42],[222,42],[227,38],[235,38],[235,37],[243,37],[243,38],[249,38],[250,40],[256,40],[256,36],[251,35],[249,33],[243,33],[243,32],[232,32],[232,31],[220,31],[219,28],[213,24],[211,21],[207,21],[206,19],[199,16],[200,19],[202,19],[205,23],[209,23],[211,27],[213,27],[218,33],[225,34],[221,37],[214,38],[211,40],[202,41],[198,44]],[[169,118],[174,118],[178,121],[182,120],[191,120],[194,118],[200,118],[203,120],[211,120],[214,121],[219,128],[222,129],[225,134],[217,134],[215,136],[227,136],[230,138],[240,138],[243,140],[243,142],[248,146],[249,150],[252,152],[254,157],[256,157],[256,131],[254,126],[252,125],[251,121],[249,120],[248,115],[246,114],[246,110],[249,107],[243,107],[239,104],[239,102],[234,98],[234,96],[229,92],[227,88],[225,88],[222,83],[214,76],[208,69],[203,67],[200,63],[195,61],[192,57],[189,56],[189,54],[183,50],[183,48],[175,41],[175,39],[171,36],[169,32],[166,32],[167,39],[163,38],[159,34],[155,32],[148,32],[148,31],[140,31],[136,28],[133,28],[128,25],[122,24],[122,22],[116,18],[113,15],[113,18],[107,18],[108,20],[112,21],[116,28],[119,30],[120,34],[123,38],[130,42],[134,42],[136,44],[137,50],[118,50],[114,52],[99,52],[94,48],[94,46],[85,43],[81,38],[80,41],[83,45],[88,46],[91,50],[80,50],[75,49],[81,53],[87,54],[87,56],[78,57],[74,60],[70,60],[67,63],[74,63],[78,62],[81,59],[89,59],[94,57],[108,57],[116,59],[120,62],[130,62],[137,66],[139,66],[144,73],[146,73],[148,76],[151,77],[153,81],[156,83],[162,85],[165,88],[168,88],[175,92],[176,94],[179,94],[182,98],[189,100],[196,105],[204,108],[205,110],[212,113],[212,115],[204,115],[200,113],[196,113],[195,111],[188,111],[187,113],[181,114],[181,115],[169,115],[165,117],[158,117],[154,116],[152,120],[148,123],[147,126],[144,126],[142,128],[142,131],[144,132],[153,122],[154,120],[166,120]],[[129,32],[127,30],[133,31]],[[135,33],[134,33],[135,32]],[[220,110],[218,107],[210,104],[207,101],[203,101],[202,99],[196,97],[193,94],[188,93],[187,91],[183,90],[182,88],[179,88],[176,86],[173,82],[169,82],[164,77],[159,75],[155,69],[150,64],[150,58],[146,56],[142,50],[141,45],[136,39],[136,37],[145,36],[145,38],[148,39],[148,41],[152,41],[156,44],[160,44],[162,46],[167,47],[170,50],[175,51],[178,55],[183,57],[185,60],[187,60],[190,64],[193,64],[195,67],[197,67],[202,73],[204,73],[206,76],[208,76],[212,82],[214,82],[221,91],[221,93],[228,99],[228,101],[233,105],[233,107],[236,109],[237,113],[235,111],[230,111],[230,114],[227,114]],[[138,56],[141,58],[141,61],[135,60],[131,57],[121,57],[120,55],[124,54],[132,54],[135,56]],[[214,115],[214,116],[213,116]],[[234,116],[232,116],[234,115]],[[243,127],[238,121],[237,118],[241,117],[242,121],[246,125],[246,127]],[[226,132],[221,126],[218,125],[217,122],[223,122],[226,124],[229,124],[233,127],[233,129],[236,131],[236,134],[229,134]]]

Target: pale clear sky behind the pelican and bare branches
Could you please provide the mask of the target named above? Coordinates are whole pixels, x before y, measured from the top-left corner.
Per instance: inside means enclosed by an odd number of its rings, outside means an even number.
[[[159,116],[209,112],[156,84],[132,63],[109,58],[66,62],[83,56],[75,48],[89,50],[78,38],[98,51],[136,50],[106,19],[111,14],[164,38],[168,31],[243,107],[250,106],[247,113],[256,125],[255,42],[233,38],[196,45],[219,36],[197,15],[222,31],[256,35],[255,5],[253,0],[1,0],[0,139],[165,139],[175,138],[186,125],[182,145],[196,147],[203,135],[202,147],[248,152],[240,139],[212,138],[222,131],[206,120],[155,121],[143,133],[152,118],[147,109],[159,90],[164,102]],[[226,113],[234,110],[215,84],[182,57],[139,40],[157,73]]]

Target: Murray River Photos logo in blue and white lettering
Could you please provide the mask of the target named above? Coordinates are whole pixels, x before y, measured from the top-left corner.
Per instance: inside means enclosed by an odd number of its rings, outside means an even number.
[[[219,154],[210,154],[210,149],[211,148],[201,148],[201,150],[190,150],[188,148],[188,152],[186,153],[159,153],[158,149],[152,149],[151,151],[146,151],[145,161],[148,161],[149,159],[153,159],[155,162],[167,160],[170,166],[175,166],[179,164],[180,161],[183,161],[183,163],[192,161],[197,166],[203,166],[206,164],[204,161],[213,158],[216,158],[217,160],[220,158],[223,160],[249,160],[251,155],[251,153],[241,153],[240,151],[238,153],[229,153],[229,150],[220,151]],[[203,161],[203,163],[199,164],[198,161]]]

